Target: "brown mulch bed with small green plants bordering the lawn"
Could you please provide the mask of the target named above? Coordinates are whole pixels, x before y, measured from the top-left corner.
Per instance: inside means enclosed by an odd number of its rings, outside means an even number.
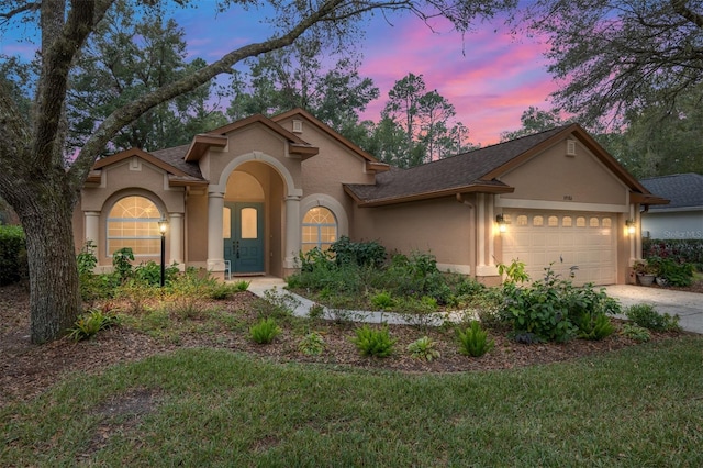
[[[243,292],[217,304],[228,313],[254,323],[256,308],[253,304],[257,300],[259,299],[253,293]],[[621,326],[620,323],[616,324]],[[26,287],[7,286],[0,288],[0,408],[12,401],[31,399],[72,372],[99,372],[118,363],[136,361],[190,347],[231,349],[281,363],[317,363],[405,372],[461,372],[559,363],[637,345],[620,334],[600,342],[572,339],[566,344],[521,345],[506,338],[504,332],[493,332],[491,337],[495,341],[494,349],[480,358],[471,358],[459,354],[453,330],[390,325],[391,336],[398,339],[397,352],[389,358],[378,359],[360,356],[349,341],[356,326],[333,322],[314,322],[308,327],[283,325],[283,333],[271,345],[253,343],[242,330],[227,331],[223,327],[215,333],[181,333],[174,343],[153,338],[126,326],[102,332],[90,341],[74,343],[64,338],[45,345],[33,345],[29,336]],[[325,352],[321,356],[305,356],[298,349],[300,338],[310,331],[324,336]],[[438,359],[429,363],[413,359],[405,352],[408,344],[425,335],[435,339],[442,354]],[[667,336],[672,334],[652,333],[652,341]]]

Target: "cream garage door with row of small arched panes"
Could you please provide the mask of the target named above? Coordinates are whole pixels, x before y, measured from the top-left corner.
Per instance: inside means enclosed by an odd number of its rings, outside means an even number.
[[[525,263],[533,280],[551,268],[574,285],[615,283],[617,252],[615,214],[557,211],[505,211],[510,222],[502,233],[503,263]]]

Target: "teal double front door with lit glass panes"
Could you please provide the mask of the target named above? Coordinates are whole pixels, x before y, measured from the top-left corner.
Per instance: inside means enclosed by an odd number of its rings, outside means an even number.
[[[264,203],[225,202],[223,239],[233,274],[265,272]]]

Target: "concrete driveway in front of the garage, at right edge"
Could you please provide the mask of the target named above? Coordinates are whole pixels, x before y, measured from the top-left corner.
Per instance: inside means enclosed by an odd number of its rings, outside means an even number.
[[[687,332],[703,334],[703,294],[676,291],[663,288],[649,288],[633,285],[613,285],[605,288],[607,296],[620,300],[625,308],[647,303],[659,313],[679,315],[679,324]]]

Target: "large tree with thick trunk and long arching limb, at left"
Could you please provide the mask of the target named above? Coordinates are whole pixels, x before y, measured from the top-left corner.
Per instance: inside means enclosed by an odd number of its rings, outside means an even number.
[[[127,1],[127,0],[124,0]],[[412,0],[312,0],[306,2],[220,0],[219,9],[242,8],[272,11],[266,25],[269,38],[233,49],[220,59],[155,90],[144,90],[101,120],[66,163],[68,138],[66,98],[69,75],[88,38],[119,0],[7,0],[0,7],[0,25],[24,24],[26,33],[37,31],[40,71],[33,102],[16,97],[15,87],[0,78],[0,197],[15,210],[26,233],[30,272],[31,337],[34,343],[57,338],[81,311],[72,238],[71,216],[80,190],[97,157],[121,129],[157,105],[232,73],[233,66],[291,45],[306,32],[315,31],[324,41],[352,37],[355,22],[372,11],[409,11],[422,20],[442,15],[466,31],[477,16],[488,16],[513,0],[451,1]],[[168,9],[167,1],[136,1],[144,8]],[[176,0],[171,4],[190,8],[200,3]],[[166,7],[165,7],[166,5]],[[25,26],[25,25],[30,26]],[[35,27],[32,27],[34,25]]]

